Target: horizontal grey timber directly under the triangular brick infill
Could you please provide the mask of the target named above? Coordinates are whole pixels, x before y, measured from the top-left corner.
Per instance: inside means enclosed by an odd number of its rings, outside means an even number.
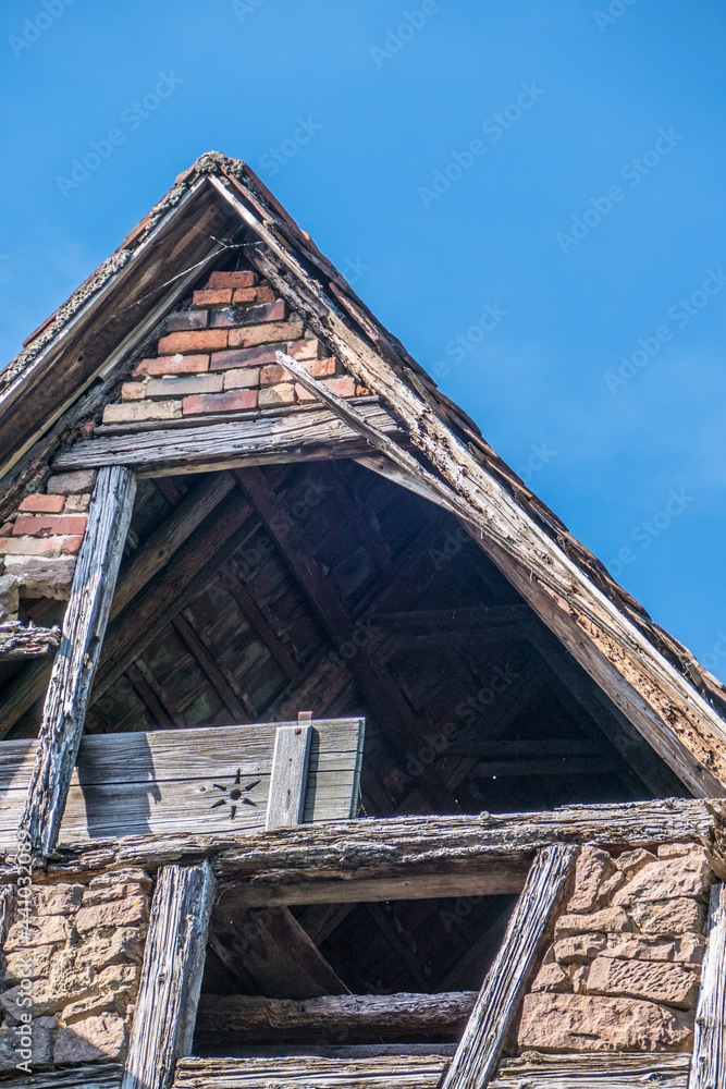
[[[382,435],[401,435],[393,415],[377,397],[358,405],[364,419]],[[53,462],[57,472],[125,465],[136,475],[172,476],[179,473],[270,465],[284,461],[355,457],[366,452],[360,440],[329,408],[206,427],[170,428],[134,435],[81,440]]]

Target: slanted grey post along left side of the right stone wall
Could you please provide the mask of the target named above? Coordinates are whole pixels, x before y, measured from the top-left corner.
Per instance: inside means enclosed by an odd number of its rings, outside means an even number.
[[[540,851],[487,974],[442,1089],[485,1089],[525,987],[574,873],[577,847]]]

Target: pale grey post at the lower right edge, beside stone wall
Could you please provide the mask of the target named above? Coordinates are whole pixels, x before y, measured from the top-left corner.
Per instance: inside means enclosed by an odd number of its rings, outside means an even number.
[[[711,889],[707,939],[688,1089],[726,1086],[726,885],[723,884]]]

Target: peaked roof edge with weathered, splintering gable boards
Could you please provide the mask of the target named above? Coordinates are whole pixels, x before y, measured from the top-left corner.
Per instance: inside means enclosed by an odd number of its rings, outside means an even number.
[[[496,455],[241,160],[210,151],[180,174],[0,372],[0,523],[59,451],[89,441],[88,421],[118,399],[139,353],[156,350],[169,313],[231,261],[264,277],[356,389],[395,414],[407,446],[401,456],[399,438],[310,386],[379,448],[377,470],[454,513],[688,788],[723,794],[726,689]]]

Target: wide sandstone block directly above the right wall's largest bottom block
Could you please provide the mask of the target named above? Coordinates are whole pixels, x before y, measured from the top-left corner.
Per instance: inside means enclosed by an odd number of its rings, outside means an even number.
[[[590,994],[614,994],[662,1002],[679,1010],[690,1010],[698,995],[699,981],[679,964],[653,960],[616,960],[598,957],[590,966]]]

